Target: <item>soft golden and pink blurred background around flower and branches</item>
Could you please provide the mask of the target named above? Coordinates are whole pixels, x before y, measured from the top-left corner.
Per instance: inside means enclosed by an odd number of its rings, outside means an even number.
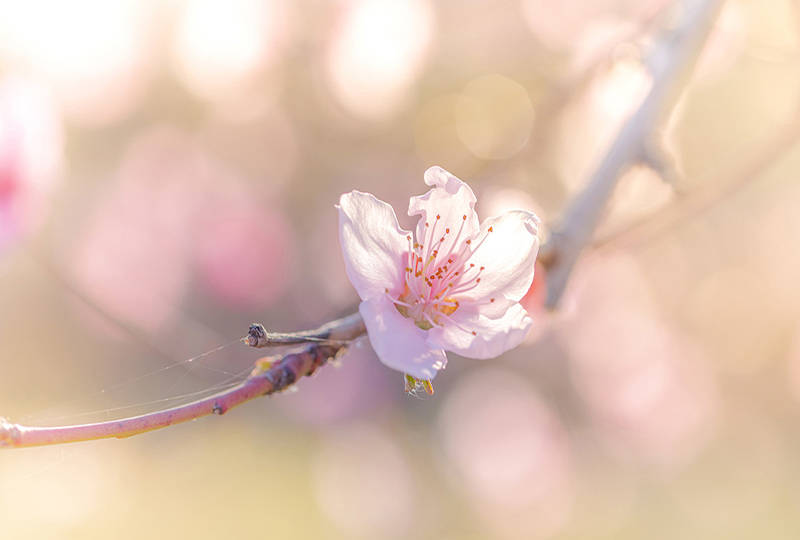
[[[0,415],[154,410],[246,373],[185,360],[250,322],[352,311],[342,192],[409,225],[439,164],[553,223],[671,4],[0,1]],[[221,418],[3,451],[0,537],[797,538],[798,28],[724,2],[656,130],[680,195],[626,174],[524,346],[415,399],[362,344]]]

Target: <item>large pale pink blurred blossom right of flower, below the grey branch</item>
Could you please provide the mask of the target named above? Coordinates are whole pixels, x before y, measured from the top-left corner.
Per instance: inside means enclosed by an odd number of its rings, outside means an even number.
[[[572,380],[616,453],[680,464],[713,434],[716,389],[705,357],[659,320],[636,268],[593,261],[578,310],[561,329]]]

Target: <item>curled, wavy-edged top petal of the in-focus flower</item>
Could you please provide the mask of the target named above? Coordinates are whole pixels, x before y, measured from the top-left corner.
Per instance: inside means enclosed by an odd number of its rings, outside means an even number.
[[[441,167],[425,171],[425,183],[433,189],[424,195],[411,197],[408,215],[420,216],[417,242],[426,248],[434,246],[441,257],[446,258],[454,247],[458,248],[480,230],[478,214],[475,213],[475,194],[467,184]],[[447,229],[449,233],[445,232]],[[444,238],[443,242],[439,242],[441,238]]]

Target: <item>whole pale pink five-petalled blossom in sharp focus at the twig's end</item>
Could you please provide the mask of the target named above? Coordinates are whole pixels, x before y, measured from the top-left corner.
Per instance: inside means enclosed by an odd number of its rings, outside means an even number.
[[[515,210],[480,224],[475,195],[441,167],[425,171],[426,194],[411,197],[416,235],[369,193],[339,199],[339,241],[361,297],[372,348],[387,366],[430,381],[445,350],[493,358],[532,324],[520,305],[533,280],[538,218]],[[425,386],[426,389],[429,385]]]

